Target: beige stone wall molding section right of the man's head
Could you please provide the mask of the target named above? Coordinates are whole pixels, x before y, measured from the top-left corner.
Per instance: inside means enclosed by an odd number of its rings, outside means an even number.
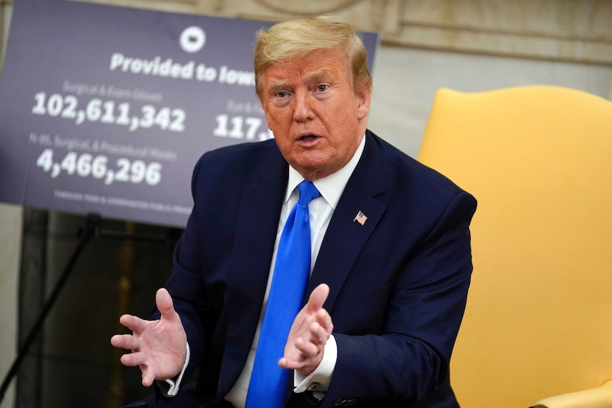
[[[387,43],[612,65],[606,0],[404,0]]]

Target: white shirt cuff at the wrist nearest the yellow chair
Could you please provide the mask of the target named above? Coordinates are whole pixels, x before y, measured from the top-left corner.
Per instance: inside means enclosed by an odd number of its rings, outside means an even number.
[[[321,398],[324,397],[324,392],[327,392],[329,383],[332,382],[332,375],[334,374],[334,368],[336,368],[336,360],[338,359],[338,346],[334,336],[329,336],[329,340],[325,343],[323,351],[323,359],[319,363],[315,371],[309,375],[300,373],[299,371],[293,372],[293,385],[295,388],[293,392],[305,392],[306,390],[312,391],[315,397],[318,398],[317,394],[322,393]]]

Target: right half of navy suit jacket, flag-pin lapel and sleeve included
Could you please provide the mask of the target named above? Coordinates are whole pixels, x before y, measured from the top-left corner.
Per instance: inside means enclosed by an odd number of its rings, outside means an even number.
[[[311,278],[311,287],[329,281],[341,273],[344,258],[354,256],[324,305],[338,345],[327,403],[455,406],[449,360],[471,279],[476,200],[376,136],[371,140],[334,211]],[[370,216],[364,226],[350,222],[360,209]],[[359,253],[351,253],[359,245]],[[433,399],[446,402],[427,403]]]

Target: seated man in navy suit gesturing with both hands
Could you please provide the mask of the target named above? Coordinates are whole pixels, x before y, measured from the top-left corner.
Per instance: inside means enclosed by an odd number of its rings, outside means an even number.
[[[266,307],[267,296],[295,187],[307,180],[320,193],[306,204],[311,275],[278,359],[293,374],[281,404],[457,407],[449,360],[476,201],[366,129],[371,77],[348,23],[324,16],[261,31],[254,65],[275,138],[197,163],[158,320],[121,317],[133,331],[111,340],[133,351],[122,363],[175,395],[162,406],[244,407],[260,378],[251,372],[268,336],[263,311],[285,306]],[[198,367],[197,387],[184,390]]]

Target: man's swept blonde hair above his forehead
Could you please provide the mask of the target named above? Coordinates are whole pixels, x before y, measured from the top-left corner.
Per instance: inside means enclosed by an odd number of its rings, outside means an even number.
[[[337,16],[325,15],[283,21],[268,31],[257,32],[253,60],[257,94],[261,97],[262,75],[269,65],[283,65],[320,50],[332,49],[346,50],[346,64],[354,89],[372,86],[368,55],[356,28]]]

